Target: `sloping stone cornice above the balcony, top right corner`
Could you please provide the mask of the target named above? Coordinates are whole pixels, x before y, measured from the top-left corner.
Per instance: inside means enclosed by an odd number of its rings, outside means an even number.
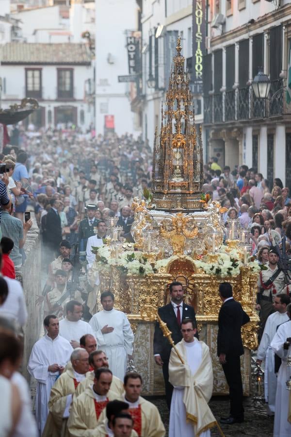
[[[211,38],[210,45],[218,46],[220,44],[225,43],[229,40],[234,40],[237,38],[240,38],[242,35],[248,33],[254,33],[256,30],[261,29],[262,27],[266,27],[268,25],[274,25],[275,21],[278,21],[280,19],[288,19],[288,15],[291,14],[291,4],[287,4],[285,6],[280,7],[276,11],[270,12],[269,14],[265,14],[262,17],[259,17],[254,23],[248,24],[245,23],[240,27],[237,27],[235,29],[232,29],[229,32],[226,32],[225,34],[215,36],[214,38]]]

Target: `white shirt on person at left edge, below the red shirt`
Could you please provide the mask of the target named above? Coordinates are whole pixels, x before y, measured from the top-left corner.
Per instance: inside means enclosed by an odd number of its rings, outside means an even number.
[[[24,326],[27,320],[27,309],[23,289],[16,279],[3,276],[8,285],[8,296],[3,305],[0,306],[0,316],[16,321]]]

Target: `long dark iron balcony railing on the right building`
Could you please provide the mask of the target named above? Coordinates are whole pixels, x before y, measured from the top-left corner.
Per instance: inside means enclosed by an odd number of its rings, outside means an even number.
[[[283,114],[291,114],[291,110],[284,105],[282,80],[271,83],[267,101],[256,99],[249,86],[204,97],[204,123],[206,124],[246,121]]]

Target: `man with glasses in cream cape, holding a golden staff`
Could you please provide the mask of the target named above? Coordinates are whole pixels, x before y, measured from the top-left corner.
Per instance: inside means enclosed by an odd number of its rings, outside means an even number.
[[[170,409],[169,437],[208,437],[216,424],[208,402],[213,389],[213,372],[209,347],[194,338],[192,319],[181,322],[182,340],[172,349],[169,380],[173,385]]]

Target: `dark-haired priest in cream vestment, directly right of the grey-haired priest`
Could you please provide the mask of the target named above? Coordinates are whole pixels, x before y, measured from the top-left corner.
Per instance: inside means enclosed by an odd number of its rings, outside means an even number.
[[[77,390],[75,393],[76,397],[78,397],[83,391],[85,391],[86,388],[93,385],[94,378],[95,378],[95,371],[97,369],[100,369],[101,367],[109,369],[108,358],[107,358],[106,354],[103,351],[94,351],[94,352],[90,353],[89,366],[93,370],[86,373],[86,378],[77,387]],[[111,383],[110,389],[111,389],[111,391],[114,391],[114,393],[117,393],[119,396],[121,396],[123,394],[123,391],[124,391],[123,383],[120,381],[120,379],[118,379],[114,375],[112,376],[112,383]]]

